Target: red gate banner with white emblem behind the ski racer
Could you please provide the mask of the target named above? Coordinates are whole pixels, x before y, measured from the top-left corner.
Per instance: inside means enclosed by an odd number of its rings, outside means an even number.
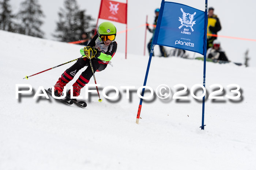
[[[102,0],[99,18],[127,24],[127,4]]]

